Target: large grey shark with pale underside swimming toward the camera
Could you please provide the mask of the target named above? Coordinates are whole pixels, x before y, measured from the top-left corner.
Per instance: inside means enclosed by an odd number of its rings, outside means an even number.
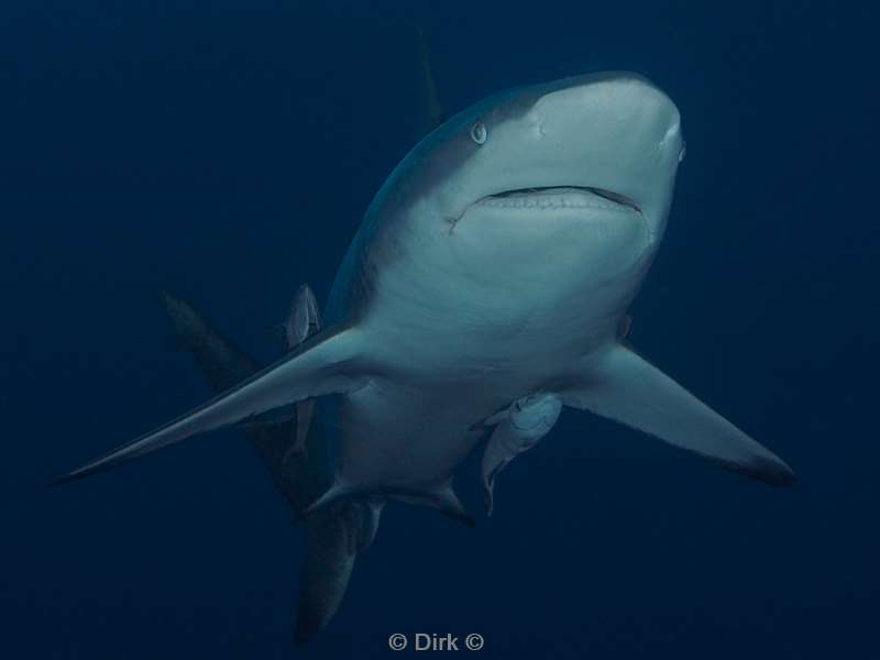
[[[59,481],[321,397],[334,469],[306,516],[398,501],[470,524],[452,486],[462,460],[488,438],[491,495],[565,408],[790,485],[781,459],[622,338],[683,152],[674,103],[635,74],[490,97],[419,142],[380,189],[324,329]]]

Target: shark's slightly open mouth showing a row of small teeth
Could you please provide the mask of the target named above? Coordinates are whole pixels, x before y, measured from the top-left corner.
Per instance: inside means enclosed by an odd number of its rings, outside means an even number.
[[[603,188],[586,186],[546,186],[505,190],[482,198],[479,206],[503,209],[602,209],[636,211],[638,205],[628,197]]]

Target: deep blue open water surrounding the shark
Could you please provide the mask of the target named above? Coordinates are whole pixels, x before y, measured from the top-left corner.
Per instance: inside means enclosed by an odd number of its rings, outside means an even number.
[[[479,631],[493,658],[878,657],[872,3],[371,4],[2,3],[2,656],[295,652],[298,531],[234,433],[43,484],[208,395],[161,287],[274,358],[420,134],[421,25],[450,111],[596,68],[672,96],[688,157],[632,340],[799,482],[566,413],[475,530],[391,506],[302,654]]]

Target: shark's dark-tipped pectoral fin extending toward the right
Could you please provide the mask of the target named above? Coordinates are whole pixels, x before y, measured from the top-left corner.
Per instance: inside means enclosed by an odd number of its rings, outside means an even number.
[[[562,398],[768,484],[794,480],[782,459],[623,345],[591,365],[583,383]]]

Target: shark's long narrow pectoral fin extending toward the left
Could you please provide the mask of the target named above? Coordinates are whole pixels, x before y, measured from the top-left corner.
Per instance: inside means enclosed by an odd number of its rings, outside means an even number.
[[[61,476],[55,483],[109,470],[196,433],[237,424],[279,406],[351,392],[367,377],[360,371],[359,343],[356,329],[329,329],[316,334],[284,359],[207,404]]]

